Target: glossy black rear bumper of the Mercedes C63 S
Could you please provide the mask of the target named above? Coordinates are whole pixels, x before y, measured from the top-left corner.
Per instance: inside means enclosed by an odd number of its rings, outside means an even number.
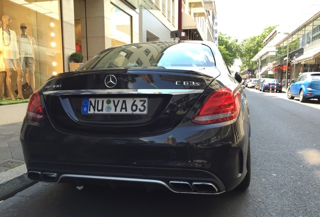
[[[67,135],[25,120],[21,143],[33,180],[148,183],[174,192],[218,194],[245,177],[249,134],[250,125],[241,118],[219,128],[185,126],[126,138]]]

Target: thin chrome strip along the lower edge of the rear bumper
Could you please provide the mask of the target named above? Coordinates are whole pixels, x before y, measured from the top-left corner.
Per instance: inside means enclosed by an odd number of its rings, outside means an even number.
[[[218,193],[201,193],[201,192],[181,192],[181,191],[174,191],[167,183],[159,180],[152,180],[152,179],[137,179],[137,178],[122,178],[122,177],[108,177],[108,176],[91,176],[91,175],[72,175],[72,174],[63,174],[59,177],[58,181],[54,183],[59,183],[62,178],[87,178],[87,179],[99,179],[99,180],[114,180],[114,181],[133,181],[133,182],[146,182],[146,183],[154,183],[154,184],[161,184],[167,187],[174,193],[189,193],[189,194],[221,194],[225,191],[218,192]],[[51,182],[52,183],[52,182]]]

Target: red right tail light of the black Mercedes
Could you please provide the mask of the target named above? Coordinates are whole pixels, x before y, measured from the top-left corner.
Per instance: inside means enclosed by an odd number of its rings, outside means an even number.
[[[232,121],[238,116],[240,106],[239,90],[223,87],[206,97],[191,121],[202,125]]]

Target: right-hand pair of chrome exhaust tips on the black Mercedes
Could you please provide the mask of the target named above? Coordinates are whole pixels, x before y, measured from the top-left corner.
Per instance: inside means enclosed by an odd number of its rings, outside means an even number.
[[[218,188],[211,182],[169,181],[174,191],[194,193],[217,193]]]

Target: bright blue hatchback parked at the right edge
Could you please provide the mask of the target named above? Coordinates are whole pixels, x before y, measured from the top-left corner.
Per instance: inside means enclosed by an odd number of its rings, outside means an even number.
[[[300,102],[320,99],[320,72],[304,72],[297,77],[287,90],[289,99],[299,97]]]

